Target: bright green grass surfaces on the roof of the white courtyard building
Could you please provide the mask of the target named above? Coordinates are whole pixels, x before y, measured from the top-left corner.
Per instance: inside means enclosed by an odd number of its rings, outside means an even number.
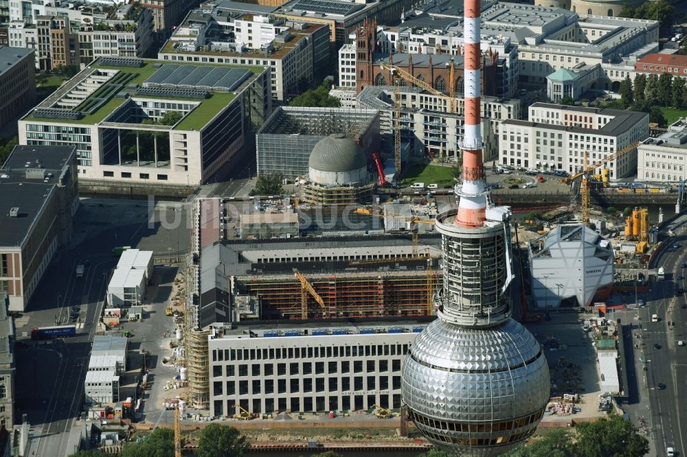
[[[133,68],[133,67],[107,67],[105,65],[91,65],[93,68],[97,69],[110,69],[120,71],[111,81],[107,84],[103,84],[102,87],[97,89],[92,93],[87,99],[79,104],[74,110],[82,111],[85,114],[82,119],[72,120],[72,119],[49,119],[49,118],[38,118],[29,115],[23,120],[25,121],[36,121],[36,122],[56,122],[56,123],[67,123],[67,124],[98,124],[102,122],[106,117],[111,115],[113,111],[124,102],[126,99],[116,98],[115,95],[118,91],[113,90],[113,87],[117,87],[121,84],[122,91],[126,91],[126,86],[130,84],[142,85],[148,78],[150,78],[157,68],[154,68],[155,63],[161,64],[177,64],[177,65],[194,65],[194,66],[211,66],[211,67],[240,67],[249,69],[253,73],[257,74],[262,72],[262,67],[251,67],[247,65],[217,65],[217,64],[205,64],[199,62],[169,62],[166,60],[150,60],[146,62],[144,67]],[[118,84],[111,84],[111,83]],[[132,94],[133,95],[133,94]],[[98,107],[98,104],[102,103],[103,99],[108,99],[107,102]],[[139,96],[135,95],[136,98],[165,98],[165,97],[150,97],[150,96]],[[210,97],[203,100],[194,99],[194,102],[200,102],[200,105],[192,110],[188,115],[181,120],[177,125],[176,129],[179,130],[200,130],[207,124],[210,119],[215,117],[220,110],[232,102],[236,97],[233,93],[227,92],[210,92]],[[183,97],[178,97],[183,99]],[[174,97],[177,99],[177,97]],[[89,109],[94,109],[92,113],[88,113]]]

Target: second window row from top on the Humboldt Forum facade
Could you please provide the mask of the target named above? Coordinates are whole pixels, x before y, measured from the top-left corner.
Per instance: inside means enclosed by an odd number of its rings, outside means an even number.
[[[401,371],[401,359],[391,360],[391,369],[394,372]],[[340,365],[340,367],[339,367]],[[325,373],[363,373],[363,360],[354,360],[353,371],[350,370],[350,362],[348,360],[341,360],[340,362],[326,362],[327,371],[325,372],[325,362],[315,362],[315,374],[324,375]],[[250,370],[248,364],[226,365],[225,376],[234,377],[236,373],[238,376],[273,376],[275,373],[275,364],[251,364]],[[366,373],[385,373],[389,371],[389,360],[365,360]],[[286,375],[286,363],[276,364],[276,373],[278,376]],[[289,363],[289,375],[311,375],[313,373],[313,362],[291,362]],[[212,366],[212,376],[222,376],[222,366]]]

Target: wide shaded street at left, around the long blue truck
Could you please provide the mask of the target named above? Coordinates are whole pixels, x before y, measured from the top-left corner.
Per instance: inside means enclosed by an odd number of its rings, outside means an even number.
[[[69,454],[67,438],[82,410],[83,383],[106,284],[117,264],[112,250],[132,246],[168,255],[188,250],[190,220],[185,204],[149,205],[141,200],[82,199],[69,246],[54,255],[26,312],[16,316],[16,417],[32,425],[37,456]],[[77,278],[76,265],[86,265]],[[73,323],[73,338],[33,341],[34,327]],[[71,449],[73,452],[73,449]]]

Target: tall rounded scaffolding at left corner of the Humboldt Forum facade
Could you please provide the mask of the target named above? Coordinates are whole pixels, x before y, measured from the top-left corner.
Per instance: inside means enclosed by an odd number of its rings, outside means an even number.
[[[190,330],[186,338],[186,365],[188,369],[188,396],[192,408],[210,407],[210,363],[207,355],[207,338],[210,331]]]

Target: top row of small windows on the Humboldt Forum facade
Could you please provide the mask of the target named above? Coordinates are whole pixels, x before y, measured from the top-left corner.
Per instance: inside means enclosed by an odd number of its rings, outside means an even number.
[[[270,349],[213,349],[212,362],[226,360],[275,360],[293,358],[370,357],[405,355],[408,344],[365,344],[359,346],[289,347]]]

